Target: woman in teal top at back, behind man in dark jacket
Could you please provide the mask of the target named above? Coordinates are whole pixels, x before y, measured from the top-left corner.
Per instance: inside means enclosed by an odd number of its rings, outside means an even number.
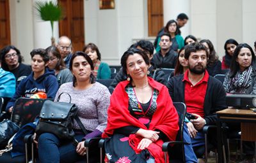
[[[175,52],[179,52],[180,48],[184,46],[184,39],[180,34],[178,34],[179,28],[177,27],[178,24],[175,20],[170,20],[167,22],[167,24],[164,27],[164,32],[170,34],[171,36],[171,41],[172,41],[172,46],[170,49],[174,50]],[[159,45],[161,41],[161,36],[158,38],[157,41],[157,47],[156,47],[156,52],[159,52],[161,50],[161,46]]]

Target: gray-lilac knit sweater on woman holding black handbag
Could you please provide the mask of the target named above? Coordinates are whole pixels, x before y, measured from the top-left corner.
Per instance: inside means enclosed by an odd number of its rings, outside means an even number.
[[[55,100],[62,92],[71,96],[71,103],[78,107],[77,115],[86,130],[103,132],[107,125],[107,110],[110,103],[110,93],[107,87],[96,82],[92,87],[85,90],[75,90],[72,82],[63,83],[58,90]],[[62,94],[60,102],[68,103],[70,98]],[[77,122],[74,122],[74,129],[80,129]]]

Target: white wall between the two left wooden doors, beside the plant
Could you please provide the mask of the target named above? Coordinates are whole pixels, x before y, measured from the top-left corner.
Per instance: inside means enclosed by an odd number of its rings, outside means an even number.
[[[34,2],[35,0],[10,1],[11,43],[20,50],[26,64],[30,64],[30,52],[34,48],[47,48],[51,45],[51,24],[42,22],[35,16]],[[55,22],[56,39],[58,32],[58,22]]]

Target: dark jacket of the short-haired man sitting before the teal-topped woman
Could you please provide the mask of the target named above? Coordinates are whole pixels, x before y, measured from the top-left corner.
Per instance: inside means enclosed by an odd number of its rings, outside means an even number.
[[[166,53],[166,55],[163,57],[160,50],[159,52],[154,54],[152,62],[154,63],[154,67],[156,68],[174,69],[177,56],[178,54],[175,51],[169,50],[169,52]]]

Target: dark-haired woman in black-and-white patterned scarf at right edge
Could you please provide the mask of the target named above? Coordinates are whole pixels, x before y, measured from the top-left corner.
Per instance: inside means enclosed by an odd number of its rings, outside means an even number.
[[[227,93],[256,94],[255,54],[250,45],[237,45],[223,86]]]

